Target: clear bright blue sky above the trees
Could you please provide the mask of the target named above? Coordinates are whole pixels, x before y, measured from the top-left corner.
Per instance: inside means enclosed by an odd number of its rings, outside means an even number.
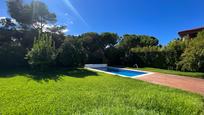
[[[30,0],[24,0],[29,2]],[[166,45],[178,32],[204,26],[204,0],[41,0],[66,25],[66,34],[145,34]],[[0,0],[0,17],[9,17]]]

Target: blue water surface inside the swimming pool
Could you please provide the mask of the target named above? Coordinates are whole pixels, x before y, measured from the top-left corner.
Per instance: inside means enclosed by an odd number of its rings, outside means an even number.
[[[113,68],[113,67],[100,67],[100,68],[94,68],[94,69],[98,69],[98,70],[105,71],[105,72],[110,72],[116,75],[127,76],[127,77],[136,77],[138,75],[147,74],[145,72],[131,71],[131,70],[125,70],[122,68]]]

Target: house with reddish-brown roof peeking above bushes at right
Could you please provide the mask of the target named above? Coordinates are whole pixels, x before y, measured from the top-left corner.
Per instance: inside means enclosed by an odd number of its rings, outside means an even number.
[[[180,31],[180,32],[178,32],[178,34],[182,39],[194,38],[197,36],[198,32],[200,32],[202,30],[204,30],[204,27]]]

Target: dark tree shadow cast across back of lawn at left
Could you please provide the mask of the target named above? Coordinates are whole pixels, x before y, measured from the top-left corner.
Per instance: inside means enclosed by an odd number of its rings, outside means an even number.
[[[75,78],[84,78],[88,76],[97,76],[93,71],[79,68],[57,68],[45,71],[36,71],[27,68],[18,69],[0,69],[0,78],[11,78],[16,76],[25,76],[36,81],[58,81],[62,76],[69,76]]]

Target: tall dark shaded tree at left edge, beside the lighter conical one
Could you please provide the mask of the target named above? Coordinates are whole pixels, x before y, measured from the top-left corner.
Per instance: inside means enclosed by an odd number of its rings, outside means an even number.
[[[0,19],[0,64],[1,67],[26,66],[26,49],[21,44],[21,33],[11,18]]]

